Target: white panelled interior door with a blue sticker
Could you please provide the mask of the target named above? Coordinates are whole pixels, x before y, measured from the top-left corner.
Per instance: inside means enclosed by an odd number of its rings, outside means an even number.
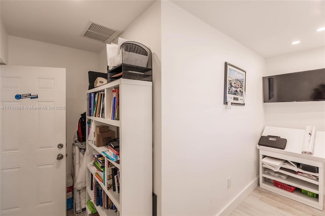
[[[1,65],[0,79],[0,214],[66,215],[66,69]]]

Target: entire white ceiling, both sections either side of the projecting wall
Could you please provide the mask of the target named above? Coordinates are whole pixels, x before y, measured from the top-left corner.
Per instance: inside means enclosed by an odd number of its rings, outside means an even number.
[[[152,1],[6,1],[8,34],[100,52],[105,44],[83,38],[89,22],[123,31]],[[266,58],[325,46],[325,1],[173,1]],[[195,30],[195,29],[193,29]],[[291,45],[293,41],[301,41]]]

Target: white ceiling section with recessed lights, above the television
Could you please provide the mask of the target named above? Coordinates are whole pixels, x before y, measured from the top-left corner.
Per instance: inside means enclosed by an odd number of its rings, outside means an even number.
[[[325,46],[323,0],[173,2],[266,58]]]

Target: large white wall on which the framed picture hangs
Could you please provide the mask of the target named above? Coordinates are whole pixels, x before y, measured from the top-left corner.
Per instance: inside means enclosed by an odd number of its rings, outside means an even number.
[[[175,4],[161,4],[161,213],[216,215],[256,183],[265,59]],[[225,61],[247,77],[246,104],[231,110],[223,105]]]

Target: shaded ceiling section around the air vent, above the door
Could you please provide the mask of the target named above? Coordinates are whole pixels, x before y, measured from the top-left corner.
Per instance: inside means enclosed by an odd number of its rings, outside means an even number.
[[[1,20],[9,35],[98,53],[105,44],[82,37],[90,21],[123,31],[153,2],[1,0]]]

